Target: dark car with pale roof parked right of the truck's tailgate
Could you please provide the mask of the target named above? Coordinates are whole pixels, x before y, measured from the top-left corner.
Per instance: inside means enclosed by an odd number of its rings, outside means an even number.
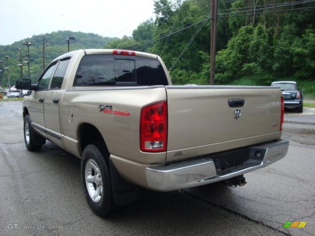
[[[272,87],[279,87],[284,98],[284,107],[296,109],[297,112],[303,112],[303,92],[305,89],[299,89],[294,81],[276,81],[272,82]]]

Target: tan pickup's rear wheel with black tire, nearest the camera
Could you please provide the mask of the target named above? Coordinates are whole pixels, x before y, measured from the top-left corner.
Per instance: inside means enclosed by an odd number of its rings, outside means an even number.
[[[92,164],[96,164],[93,170],[90,168]],[[91,172],[89,172],[91,170]],[[100,172],[100,173],[99,173]],[[87,173],[91,173],[88,175]],[[100,174],[100,176],[99,176]],[[99,177],[100,182],[88,182],[88,177]],[[92,211],[100,217],[109,216],[114,208],[113,196],[112,196],[112,183],[109,167],[109,155],[106,146],[101,143],[93,143],[87,145],[82,154],[81,160],[81,181],[83,184],[83,192],[86,200]],[[91,180],[94,181],[94,180]],[[100,185],[97,185],[99,183]],[[89,187],[88,187],[89,184]],[[100,188],[101,186],[101,188]],[[96,194],[100,188],[100,194]],[[94,191],[93,191],[94,189]],[[93,194],[94,193],[94,194]],[[92,196],[93,195],[93,196]],[[96,197],[95,197],[96,195]]]

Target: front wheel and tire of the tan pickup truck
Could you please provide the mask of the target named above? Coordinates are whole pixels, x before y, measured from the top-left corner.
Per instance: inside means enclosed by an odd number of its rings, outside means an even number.
[[[27,127],[27,128],[26,128]],[[24,117],[24,142],[27,150],[35,151],[39,150],[43,144],[46,143],[46,139],[37,134],[31,126],[31,118],[29,115]],[[27,130],[28,130],[28,140],[27,140]]]

